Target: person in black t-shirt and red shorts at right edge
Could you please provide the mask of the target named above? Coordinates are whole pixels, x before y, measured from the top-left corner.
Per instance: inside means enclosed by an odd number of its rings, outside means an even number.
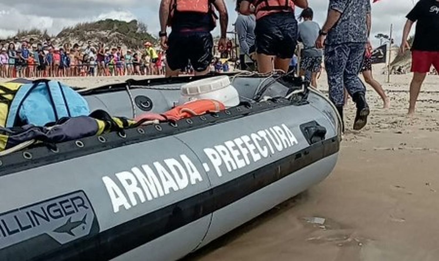
[[[430,72],[432,65],[439,70],[439,0],[420,0],[407,14],[404,26],[401,52],[410,49],[407,42],[410,29],[417,21],[412,50],[413,79],[410,84],[409,115],[415,111],[416,100],[421,90],[425,76]]]

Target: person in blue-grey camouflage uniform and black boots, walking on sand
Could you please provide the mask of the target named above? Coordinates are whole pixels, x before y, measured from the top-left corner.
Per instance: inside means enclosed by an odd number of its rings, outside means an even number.
[[[359,78],[371,29],[370,0],[330,0],[327,20],[317,38],[317,48],[325,48],[325,68],[329,97],[343,117],[344,91],[356,103],[353,129],[367,123],[369,107],[366,88]]]

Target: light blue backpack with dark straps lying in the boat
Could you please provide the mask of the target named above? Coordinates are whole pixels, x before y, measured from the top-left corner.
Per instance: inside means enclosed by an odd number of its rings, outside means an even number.
[[[86,100],[57,81],[37,80],[21,86],[12,100],[6,127],[33,124],[44,126],[63,117],[87,116]]]

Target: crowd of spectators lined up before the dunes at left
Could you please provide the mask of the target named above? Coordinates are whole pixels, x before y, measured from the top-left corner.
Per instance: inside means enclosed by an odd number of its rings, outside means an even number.
[[[84,46],[65,43],[55,46],[50,39],[14,39],[0,43],[0,77],[78,77],[162,75],[166,55],[150,42],[140,50],[124,50],[122,46]]]

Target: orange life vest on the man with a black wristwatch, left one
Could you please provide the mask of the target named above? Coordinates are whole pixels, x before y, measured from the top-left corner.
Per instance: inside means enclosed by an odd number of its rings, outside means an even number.
[[[169,9],[168,26],[172,26],[176,12],[194,12],[201,14],[212,14],[212,24],[216,26],[218,16],[215,14],[213,0],[172,0]]]

